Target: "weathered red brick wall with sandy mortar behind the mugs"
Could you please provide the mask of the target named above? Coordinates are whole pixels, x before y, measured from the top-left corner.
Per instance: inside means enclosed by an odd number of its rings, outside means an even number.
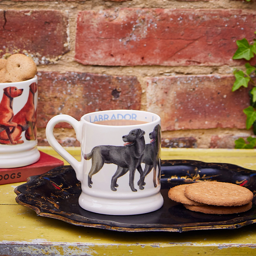
[[[56,114],[118,108],[159,114],[164,147],[234,148],[252,135],[242,112],[250,88],[231,88],[256,0],[2,0],[0,9],[0,56],[38,65],[39,145]],[[78,146],[67,124],[55,134]]]

